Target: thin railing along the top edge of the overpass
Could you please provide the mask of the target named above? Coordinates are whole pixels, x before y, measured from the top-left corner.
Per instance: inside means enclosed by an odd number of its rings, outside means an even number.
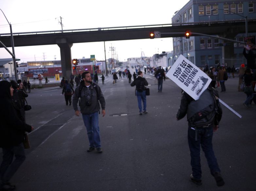
[[[256,19],[248,19],[248,21],[256,21]],[[28,34],[51,34],[51,33],[72,33],[72,32],[89,32],[89,31],[105,31],[105,30],[118,30],[118,29],[140,29],[140,28],[152,28],[152,27],[170,27],[180,25],[200,25],[200,24],[214,24],[214,23],[232,23],[232,22],[244,22],[243,19],[239,20],[218,20],[218,21],[201,21],[201,22],[185,22],[185,23],[169,23],[169,24],[153,24],[153,25],[135,25],[135,26],[120,26],[120,27],[103,27],[103,28],[89,28],[89,29],[68,29],[68,30],[56,30],[56,31],[35,31],[35,32],[21,32],[13,33],[13,35],[28,35]],[[3,33],[0,36],[9,36],[10,33]]]

